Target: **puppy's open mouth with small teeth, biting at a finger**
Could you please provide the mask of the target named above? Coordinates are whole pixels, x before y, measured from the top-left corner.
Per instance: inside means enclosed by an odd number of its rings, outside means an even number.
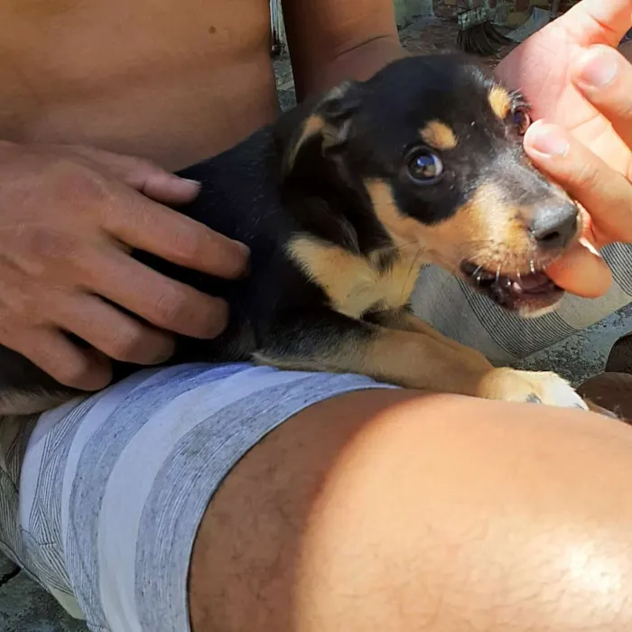
[[[460,271],[480,293],[506,310],[517,311],[525,317],[533,318],[550,311],[564,293],[542,270],[533,270],[527,274],[500,274],[471,261],[464,261]]]

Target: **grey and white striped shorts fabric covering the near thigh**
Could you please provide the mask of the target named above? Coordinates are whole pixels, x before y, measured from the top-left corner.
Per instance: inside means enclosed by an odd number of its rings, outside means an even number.
[[[385,388],[246,364],[148,370],[39,420],[0,420],[0,546],[99,632],[186,632],[214,491],[306,406]]]

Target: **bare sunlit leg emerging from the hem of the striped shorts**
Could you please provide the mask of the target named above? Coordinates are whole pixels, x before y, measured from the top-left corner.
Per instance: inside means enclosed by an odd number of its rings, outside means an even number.
[[[209,507],[194,632],[632,629],[630,479],[632,430],[590,414],[405,392],[318,404]]]

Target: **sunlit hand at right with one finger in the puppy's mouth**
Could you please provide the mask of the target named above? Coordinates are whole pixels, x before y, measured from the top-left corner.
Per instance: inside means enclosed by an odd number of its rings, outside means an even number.
[[[581,296],[600,296],[611,283],[596,249],[632,242],[632,67],[615,50],[630,24],[632,0],[583,0],[498,67],[534,119],[544,119],[527,131],[526,152],[581,204],[581,244],[547,271]],[[584,74],[601,63],[614,64],[616,76],[590,87]]]

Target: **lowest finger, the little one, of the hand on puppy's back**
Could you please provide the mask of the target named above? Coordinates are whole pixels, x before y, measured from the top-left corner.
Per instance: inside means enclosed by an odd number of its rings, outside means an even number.
[[[6,347],[28,358],[53,379],[82,391],[105,388],[112,379],[107,358],[79,349],[59,330],[35,329],[16,336]]]

